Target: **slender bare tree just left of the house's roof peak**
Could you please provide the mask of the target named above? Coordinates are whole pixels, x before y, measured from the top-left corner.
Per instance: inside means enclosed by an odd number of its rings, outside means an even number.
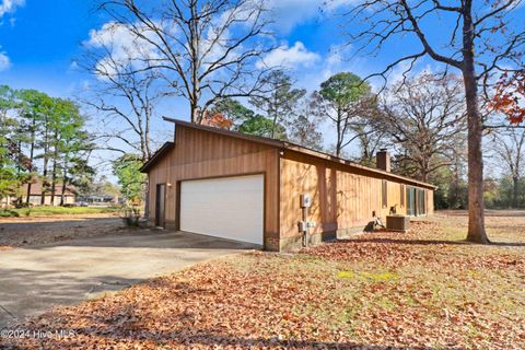
[[[170,95],[158,71],[137,71],[153,55],[151,46],[117,23],[93,31],[91,39],[84,43],[78,63],[94,79],[80,100],[102,114],[97,119],[102,122],[96,125],[102,143],[98,148],[137,153],[143,161],[152,155],[152,119],[158,104]]]

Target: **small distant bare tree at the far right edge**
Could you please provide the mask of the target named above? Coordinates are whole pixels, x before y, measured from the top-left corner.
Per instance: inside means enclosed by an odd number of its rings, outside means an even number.
[[[512,207],[518,207],[520,179],[525,172],[525,129],[509,127],[493,135],[493,150],[512,177]]]

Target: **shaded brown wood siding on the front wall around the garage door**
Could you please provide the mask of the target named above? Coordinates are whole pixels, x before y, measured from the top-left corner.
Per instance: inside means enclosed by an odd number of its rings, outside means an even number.
[[[205,130],[177,126],[175,147],[149,172],[149,213],[155,214],[155,188],[166,187],[166,224],[177,228],[177,188],[185,179],[246,174],[265,175],[265,240],[279,240],[278,162],[276,148]]]

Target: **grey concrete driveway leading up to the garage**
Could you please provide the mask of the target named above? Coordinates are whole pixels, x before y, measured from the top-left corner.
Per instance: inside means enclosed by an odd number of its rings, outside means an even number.
[[[161,231],[162,232],[162,231]],[[106,291],[253,245],[172,232],[61,242],[0,252],[0,329]]]

